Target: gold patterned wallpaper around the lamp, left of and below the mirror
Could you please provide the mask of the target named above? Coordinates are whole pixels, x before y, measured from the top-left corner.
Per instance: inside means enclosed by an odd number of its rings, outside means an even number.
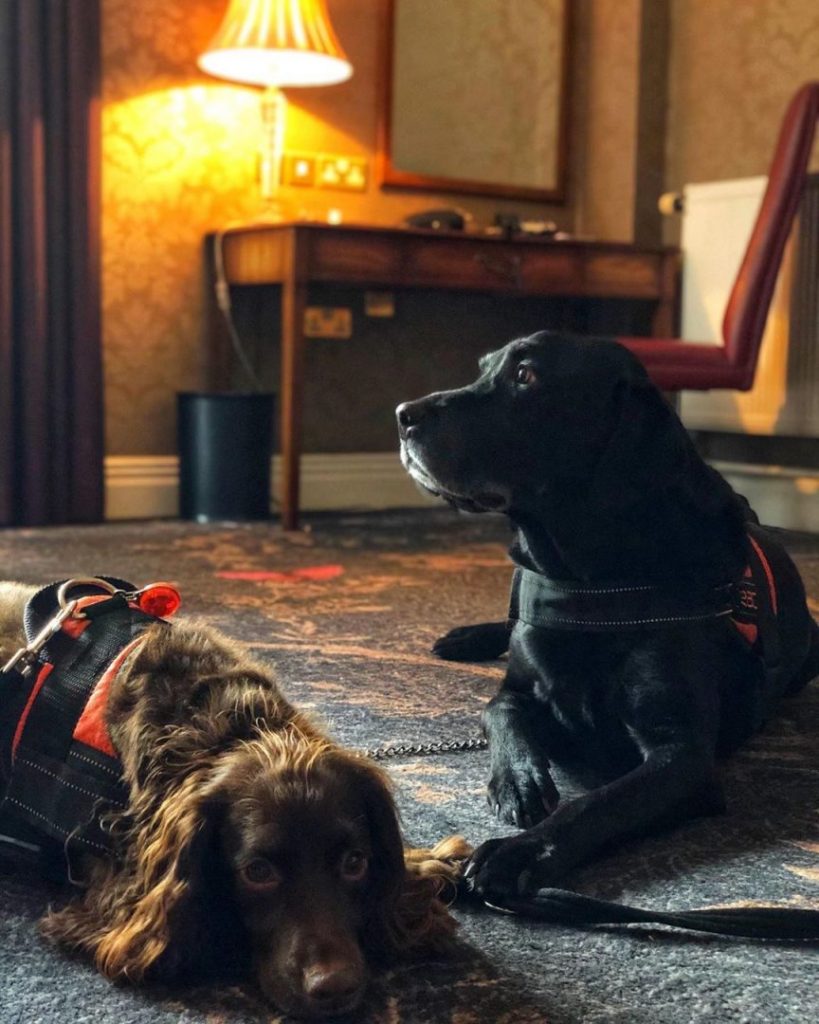
[[[291,90],[286,146],[371,158],[383,0],[330,0],[350,82]],[[199,74],[226,0],[102,0],[102,260],[106,452],[175,451],[175,392],[202,384],[204,234],[258,218],[258,92]],[[296,215],[393,224],[432,206],[543,206],[430,194],[290,189]],[[565,209],[546,209],[567,224]],[[350,369],[355,375],[355,368]],[[309,411],[308,411],[309,415]],[[309,426],[309,423],[308,423]]]

